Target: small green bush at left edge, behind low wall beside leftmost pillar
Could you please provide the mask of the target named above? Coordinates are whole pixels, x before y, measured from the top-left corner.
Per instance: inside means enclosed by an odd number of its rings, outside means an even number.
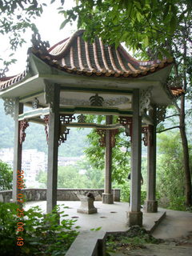
[[[0,190],[12,190],[13,171],[0,160]]]

